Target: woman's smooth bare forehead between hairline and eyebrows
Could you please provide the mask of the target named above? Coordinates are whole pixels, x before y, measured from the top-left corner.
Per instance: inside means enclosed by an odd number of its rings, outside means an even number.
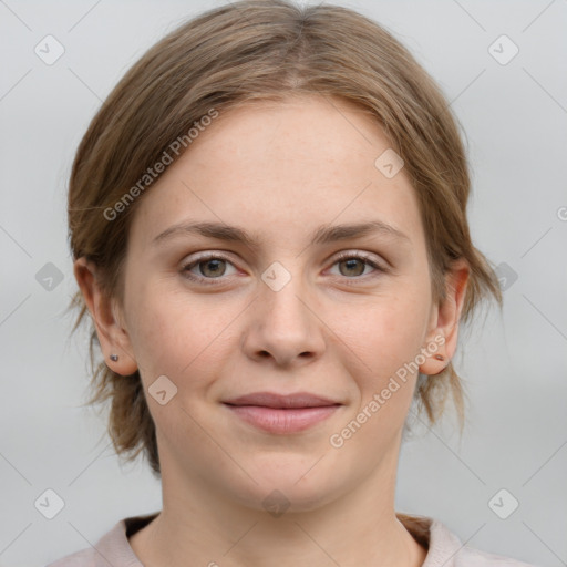
[[[131,237],[150,245],[183,220],[249,227],[267,240],[323,224],[382,220],[423,237],[403,168],[375,161],[391,143],[368,113],[329,96],[254,102],[199,132],[140,203]]]

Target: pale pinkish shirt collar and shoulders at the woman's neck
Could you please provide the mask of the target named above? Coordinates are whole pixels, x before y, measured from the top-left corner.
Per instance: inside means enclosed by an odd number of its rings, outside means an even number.
[[[130,546],[128,537],[158,513],[120,520],[94,545],[62,557],[47,567],[143,567]],[[441,522],[426,516],[396,513],[398,519],[416,542],[427,548],[422,567],[536,567],[517,559],[464,546]]]

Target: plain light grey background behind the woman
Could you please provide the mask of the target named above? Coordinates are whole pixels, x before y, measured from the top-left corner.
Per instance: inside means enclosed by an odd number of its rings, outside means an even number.
[[[121,466],[104,416],[80,406],[86,334],[68,339],[66,181],[87,123],[126,69],[221,3],[0,1],[4,567],[42,566],[161,508],[146,463]],[[517,275],[503,317],[493,310],[462,337],[456,362],[471,399],[462,442],[449,416],[402,446],[396,509],[433,516],[472,547],[567,565],[567,1],[342,4],[385,25],[441,83],[467,134],[475,244]],[[52,65],[34,53],[48,34],[65,49]],[[488,51],[502,34],[519,49],[507,64]],[[502,58],[512,47],[501,44]],[[63,275],[51,291],[35,279],[48,262]],[[47,488],[65,504],[53,519],[34,507]],[[507,519],[488,505],[502,488],[519,502]]]

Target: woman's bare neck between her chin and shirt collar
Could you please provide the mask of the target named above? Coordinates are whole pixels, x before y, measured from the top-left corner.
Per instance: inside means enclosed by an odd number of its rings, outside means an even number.
[[[380,482],[368,477],[323,505],[318,498],[315,509],[279,517],[230,502],[205,481],[195,486],[192,478],[192,489],[184,489],[181,478],[163,478],[163,512],[130,539],[144,565],[182,567],[190,557],[192,564],[210,567],[259,567],[275,558],[280,567],[329,561],[421,567],[426,556],[395,516],[394,474]]]

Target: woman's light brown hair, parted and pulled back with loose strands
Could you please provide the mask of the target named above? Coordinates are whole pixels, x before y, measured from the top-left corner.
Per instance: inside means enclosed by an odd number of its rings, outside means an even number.
[[[70,176],[69,238],[73,258],[96,266],[102,292],[123,301],[128,227],[140,193],[147,190],[140,179],[172,143],[187,141],[195,122],[212,110],[223,113],[293,95],[354,104],[383,128],[417,197],[434,299],[445,297],[444,275],[454,260],[464,259],[470,278],[461,320],[466,322],[489,296],[502,306],[498,279],[471,240],[465,151],[440,87],[377,22],[343,7],[299,7],[287,0],[230,2],[184,22],[125,73],[92,120]],[[132,198],[125,203],[128,192]],[[109,210],[114,210],[111,219]],[[79,309],[74,332],[90,316],[80,291],[70,308]],[[123,377],[103,360],[96,362],[100,343],[89,319],[93,395],[87,403],[110,398],[107,431],[114,449],[128,461],[144,451],[159,475],[155,425],[140,372]],[[464,389],[452,363],[433,379],[420,374],[414,401],[434,424],[450,392],[462,433]]]

